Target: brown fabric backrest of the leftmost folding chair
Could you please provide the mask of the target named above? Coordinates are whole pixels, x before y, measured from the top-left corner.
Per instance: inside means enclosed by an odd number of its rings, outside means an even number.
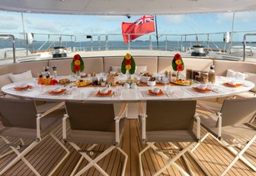
[[[37,129],[37,108],[33,100],[1,98],[0,116],[4,127]]]

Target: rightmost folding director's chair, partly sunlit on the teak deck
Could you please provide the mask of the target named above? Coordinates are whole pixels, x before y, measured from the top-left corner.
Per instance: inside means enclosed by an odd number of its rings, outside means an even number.
[[[191,151],[192,156],[206,137],[211,136],[234,155],[232,162],[227,165],[221,175],[226,175],[238,160],[245,163],[252,171],[256,171],[255,165],[244,157],[245,152],[256,139],[256,127],[253,124],[256,115],[255,107],[256,98],[225,99],[220,112],[200,115],[201,125],[207,133]],[[255,158],[254,153],[250,155]],[[200,162],[198,164],[201,165]],[[206,169],[204,171],[211,175]]]

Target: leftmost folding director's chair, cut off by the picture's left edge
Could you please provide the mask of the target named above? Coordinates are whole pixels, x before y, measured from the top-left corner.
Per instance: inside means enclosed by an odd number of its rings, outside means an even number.
[[[17,155],[8,165],[5,165],[0,171],[0,175],[5,175],[5,172],[19,160],[22,160],[34,174],[40,175],[25,156],[38,144],[43,143],[44,139],[48,136],[53,137],[53,140],[66,151],[66,155],[52,169],[49,175],[56,171],[62,161],[69,155],[69,150],[66,149],[66,146],[52,133],[52,131],[61,124],[62,118],[51,113],[62,105],[63,103],[59,103],[59,105],[50,108],[43,114],[38,114],[35,102],[32,100],[0,98],[0,116],[2,125],[4,126],[2,130],[0,130],[0,137],[11,148],[11,151],[2,154],[1,159],[5,159],[5,156],[12,154],[12,152]],[[62,113],[63,111],[59,113],[59,116],[62,115]],[[18,138],[20,142],[11,143],[11,140],[8,140],[9,137]],[[25,140],[26,142],[29,140],[29,142],[25,143]]]

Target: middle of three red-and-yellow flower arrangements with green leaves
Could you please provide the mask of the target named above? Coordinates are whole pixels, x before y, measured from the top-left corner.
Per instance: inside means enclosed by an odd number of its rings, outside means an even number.
[[[135,61],[133,56],[127,53],[122,61],[121,72],[122,74],[126,74],[126,71],[129,71],[130,74],[134,74],[136,68]]]

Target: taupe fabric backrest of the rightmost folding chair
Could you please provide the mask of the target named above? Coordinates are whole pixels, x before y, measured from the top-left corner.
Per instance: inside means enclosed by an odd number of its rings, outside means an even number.
[[[220,112],[222,113],[222,127],[248,123],[256,113],[256,98],[225,99]],[[218,124],[217,121],[216,127]]]

